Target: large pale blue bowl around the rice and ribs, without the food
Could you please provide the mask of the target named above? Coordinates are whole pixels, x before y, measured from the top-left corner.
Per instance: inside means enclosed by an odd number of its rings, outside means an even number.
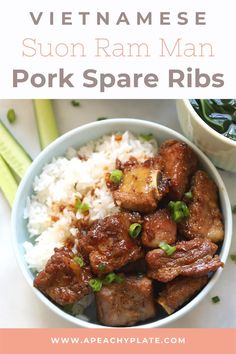
[[[13,244],[14,244],[14,250],[15,250],[17,261],[33,292],[48,307],[48,309],[52,310],[53,312],[58,314],[58,316],[62,317],[65,320],[68,320],[69,322],[79,327],[99,328],[104,326],[101,326],[97,323],[86,322],[65,313],[59,307],[54,305],[50,300],[48,300],[40,291],[38,291],[36,288],[33,287],[34,277],[30,269],[27,267],[27,264],[24,259],[23,242],[28,240],[26,220],[23,218],[24,208],[26,206],[27,197],[29,197],[32,194],[32,184],[35,177],[40,174],[43,166],[49,163],[53,157],[63,155],[69,146],[79,147],[84,145],[90,140],[101,137],[104,134],[117,132],[117,131],[126,131],[126,130],[129,130],[134,134],[152,133],[159,143],[167,139],[179,139],[186,142],[195,151],[201,163],[201,167],[206,172],[208,172],[208,174],[211,176],[211,178],[215,181],[215,183],[219,187],[220,203],[221,203],[221,208],[222,208],[224,223],[225,223],[225,239],[220,252],[220,258],[223,262],[226,261],[229,253],[229,247],[230,247],[231,236],[232,236],[232,213],[231,213],[230,201],[229,201],[229,197],[225,185],[219,173],[217,172],[216,168],[209,161],[209,159],[195,145],[189,142],[185,137],[183,137],[181,134],[176,133],[174,130],[171,130],[165,126],[148,122],[148,121],[137,120],[137,119],[109,119],[100,122],[94,122],[91,124],[81,126],[77,129],[74,129],[64,134],[56,141],[54,141],[52,144],[50,144],[50,146],[44,149],[38,155],[38,157],[33,161],[32,165],[27,171],[25,177],[20,183],[19,189],[17,191],[15,203],[13,206],[12,234],[13,234]],[[178,318],[184,316],[208,294],[208,292],[212,289],[214,284],[219,279],[219,276],[221,275],[222,271],[223,269],[218,269],[213,275],[213,277],[210,279],[208,284],[203,288],[203,290],[192,301],[190,301],[187,305],[182,307],[179,311],[163,319],[156,320],[156,321],[154,320],[148,324],[139,325],[136,327],[154,328],[154,327],[168,326],[172,321],[175,321]],[[49,316],[50,316],[50,311],[49,311]]]

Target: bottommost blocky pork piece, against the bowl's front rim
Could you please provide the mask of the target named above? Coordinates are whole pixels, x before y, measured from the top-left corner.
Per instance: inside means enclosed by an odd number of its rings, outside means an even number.
[[[106,326],[132,326],[156,314],[152,281],[130,276],[96,293],[97,316]]]

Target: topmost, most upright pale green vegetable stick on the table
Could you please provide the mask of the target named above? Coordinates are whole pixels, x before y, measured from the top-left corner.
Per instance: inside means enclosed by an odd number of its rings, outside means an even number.
[[[58,129],[51,100],[33,100],[40,146],[44,149],[58,137]]]

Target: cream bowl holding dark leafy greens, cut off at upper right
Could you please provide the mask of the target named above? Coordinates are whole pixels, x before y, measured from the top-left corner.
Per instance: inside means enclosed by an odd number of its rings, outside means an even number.
[[[176,101],[180,126],[184,135],[200,147],[217,167],[236,172],[236,141],[209,127],[188,99]]]

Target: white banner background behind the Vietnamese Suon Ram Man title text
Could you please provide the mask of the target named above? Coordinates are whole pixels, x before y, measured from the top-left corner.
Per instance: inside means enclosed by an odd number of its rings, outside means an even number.
[[[39,26],[34,26],[28,14],[29,11],[54,11],[56,24],[50,26],[44,15]],[[59,15],[61,11],[74,13],[73,26],[61,26]],[[92,16],[87,26],[82,26],[78,20],[78,11],[90,11]],[[95,12],[110,11],[112,23],[108,26],[96,26]],[[125,11],[131,22],[130,26],[116,26],[121,11]],[[146,14],[153,12],[153,26],[137,26],[134,24],[137,11]],[[171,12],[171,26],[159,25],[160,11]],[[186,26],[176,25],[176,14],[180,11],[189,13],[190,23]],[[193,17],[195,11],[207,13],[206,26],[195,26]],[[190,1],[190,0],[8,0],[0,5],[0,97],[1,98],[182,98],[182,97],[212,97],[229,98],[235,92],[235,1]],[[85,58],[59,58],[40,56],[22,57],[22,40],[26,37],[35,38],[40,42],[85,42],[89,56]],[[183,42],[211,42],[214,47],[214,58],[160,58],[153,55],[150,58],[96,58],[94,56],[94,38],[110,38],[111,42],[151,42],[153,51],[159,48],[160,37],[164,37],[169,45],[173,46],[177,38]],[[158,52],[158,50],[157,50]],[[222,72],[225,75],[223,88],[168,88],[167,72],[170,68],[186,71],[188,67],[200,67],[203,72],[213,74]],[[29,73],[41,72],[44,74],[58,72],[65,68],[67,73],[75,73],[74,88],[33,88],[30,84],[12,88],[12,70],[27,69]],[[112,88],[100,93],[98,88],[84,88],[81,75],[84,70],[94,68],[98,72],[112,72],[118,74],[154,72],[160,78],[157,88]]]

